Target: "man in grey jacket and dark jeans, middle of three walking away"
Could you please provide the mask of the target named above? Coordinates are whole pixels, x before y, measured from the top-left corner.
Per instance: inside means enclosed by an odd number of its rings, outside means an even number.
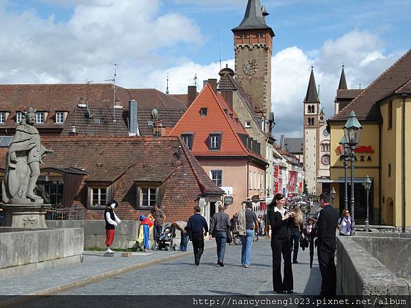
[[[228,214],[224,213],[224,205],[221,201],[218,202],[219,212],[212,216],[212,222],[210,224],[210,235],[209,238],[216,238],[217,244],[217,265],[224,266],[224,254],[225,254],[225,244],[227,244],[227,231],[231,224],[229,222]]]

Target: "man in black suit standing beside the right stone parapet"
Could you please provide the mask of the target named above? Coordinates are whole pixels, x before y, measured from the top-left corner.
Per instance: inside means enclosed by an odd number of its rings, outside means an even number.
[[[336,229],[338,211],[329,205],[329,193],[320,195],[319,203],[323,209],[317,221],[317,246],[319,266],[321,271],[321,294],[325,296],[336,295],[336,264],[334,253],[336,251]]]

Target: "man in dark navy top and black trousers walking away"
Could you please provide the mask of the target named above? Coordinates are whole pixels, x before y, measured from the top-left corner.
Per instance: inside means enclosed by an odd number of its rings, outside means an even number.
[[[190,240],[192,241],[194,262],[197,266],[200,264],[201,255],[204,251],[204,236],[207,236],[208,233],[206,218],[201,216],[200,211],[200,207],[196,205],[194,207],[194,215],[188,218],[186,227],[186,231],[190,234]]]

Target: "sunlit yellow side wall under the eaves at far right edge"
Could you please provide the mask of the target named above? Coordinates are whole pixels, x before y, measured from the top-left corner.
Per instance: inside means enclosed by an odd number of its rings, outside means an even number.
[[[402,131],[403,131],[403,99],[393,99],[393,125],[388,129],[388,104],[386,101],[380,105],[383,124],[381,132],[382,146],[381,158],[381,204],[382,220],[386,224],[397,227],[403,226],[403,217],[406,218],[406,227],[411,227],[411,204],[409,192],[411,192],[411,164],[408,158],[411,153],[411,99],[406,99],[406,181],[405,181],[405,203],[403,211],[403,162],[402,162]],[[388,175],[388,164],[391,164],[391,175]],[[408,192],[408,194],[407,194]],[[384,202],[383,202],[384,201]]]

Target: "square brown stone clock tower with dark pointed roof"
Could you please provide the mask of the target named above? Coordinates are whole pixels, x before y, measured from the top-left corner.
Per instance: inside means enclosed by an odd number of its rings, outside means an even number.
[[[271,112],[271,55],[274,31],[266,25],[269,13],[260,0],[248,0],[244,18],[234,33],[236,79],[264,118]]]

